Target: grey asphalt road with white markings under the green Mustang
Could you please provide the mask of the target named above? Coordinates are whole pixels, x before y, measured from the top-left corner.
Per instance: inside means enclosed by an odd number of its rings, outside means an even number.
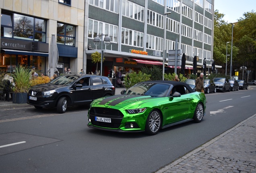
[[[255,91],[256,87],[250,87],[210,93],[201,123],[176,125],[154,136],[89,129],[86,107],[64,114],[33,107],[8,110],[37,116],[0,123],[0,172],[155,172],[254,115]]]

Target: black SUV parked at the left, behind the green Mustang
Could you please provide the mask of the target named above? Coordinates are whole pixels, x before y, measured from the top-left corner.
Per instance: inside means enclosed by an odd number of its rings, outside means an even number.
[[[66,74],[47,84],[31,87],[27,103],[40,109],[57,107],[58,113],[66,112],[72,105],[89,105],[100,97],[115,95],[109,78],[89,74]]]

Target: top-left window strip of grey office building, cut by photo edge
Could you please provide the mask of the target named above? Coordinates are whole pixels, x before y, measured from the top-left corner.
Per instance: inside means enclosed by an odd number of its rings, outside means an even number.
[[[118,13],[118,0],[89,0],[89,4]]]

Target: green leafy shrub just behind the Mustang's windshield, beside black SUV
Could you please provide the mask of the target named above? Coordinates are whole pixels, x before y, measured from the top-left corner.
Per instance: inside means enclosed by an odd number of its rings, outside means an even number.
[[[125,88],[128,89],[132,87],[134,84],[138,82],[148,81],[150,80],[150,78],[150,74],[142,73],[141,71],[139,71],[138,73],[132,71],[126,74],[126,76],[124,77]]]

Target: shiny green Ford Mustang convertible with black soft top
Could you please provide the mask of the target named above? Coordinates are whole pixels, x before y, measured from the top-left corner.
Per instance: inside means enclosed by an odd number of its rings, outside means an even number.
[[[157,80],[139,82],[121,95],[102,97],[91,103],[88,127],[118,132],[145,131],[155,135],[160,129],[205,115],[204,93],[183,82]]]

